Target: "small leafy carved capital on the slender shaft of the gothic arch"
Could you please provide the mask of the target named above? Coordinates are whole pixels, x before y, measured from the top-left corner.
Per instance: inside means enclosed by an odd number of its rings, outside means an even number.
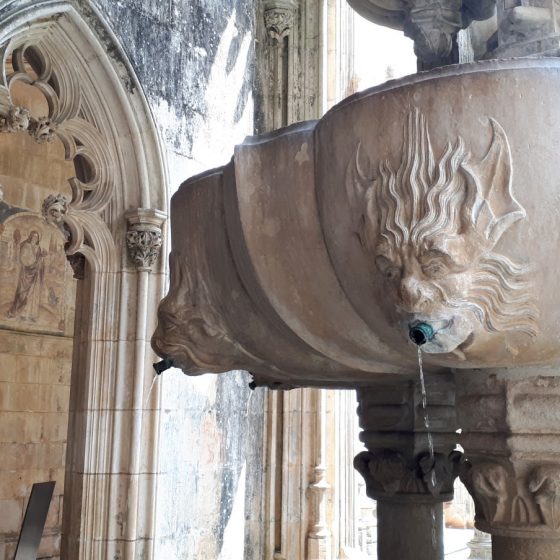
[[[151,271],[163,245],[162,225],[167,216],[159,210],[139,208],[126,215],[126,246],[138,270]]]

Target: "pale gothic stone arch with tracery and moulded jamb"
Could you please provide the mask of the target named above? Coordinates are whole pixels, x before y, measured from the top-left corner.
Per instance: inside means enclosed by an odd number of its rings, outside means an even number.
[[[147,341],[165,281],[157,256],[168,200],[158,132],[126,55],[91,7],[28,0],[0,9],[0,57],[0,131],[40,143],[57,137],[76,170],[71,197],[53,192],[43,203],[45,220],[65,232],[76,269],[85,259],[78,271],[63,556],[149,559],[159,394],[155,387],[146,400]],[[41,91],[48,114],[14,104],[18,81]]]

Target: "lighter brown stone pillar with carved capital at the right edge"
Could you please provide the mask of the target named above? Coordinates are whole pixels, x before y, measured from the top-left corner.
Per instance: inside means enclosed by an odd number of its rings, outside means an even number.
[[[547,370],[456,374],[461,479],[494,560],[560,558],[560,378]]]

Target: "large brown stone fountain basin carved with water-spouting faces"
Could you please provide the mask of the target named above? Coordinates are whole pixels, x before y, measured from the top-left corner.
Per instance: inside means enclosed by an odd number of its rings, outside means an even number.
[[[185,373],[347,387],[560,360],[560,63],[487,62],[248,138],[171,205],[153,338]]]

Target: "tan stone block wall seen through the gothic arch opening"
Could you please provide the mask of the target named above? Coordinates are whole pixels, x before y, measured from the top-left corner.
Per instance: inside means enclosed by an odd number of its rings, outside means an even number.
[[[36,117],[47,114],[31,86],[16,84],[12,97]],[[40,558],[60,554],[76,285],[64,237],[41,204],[69,193],[73,175],[59,141],[0,132],[1,560],[14,557],[33,483],[48,480],[56,486]]]

